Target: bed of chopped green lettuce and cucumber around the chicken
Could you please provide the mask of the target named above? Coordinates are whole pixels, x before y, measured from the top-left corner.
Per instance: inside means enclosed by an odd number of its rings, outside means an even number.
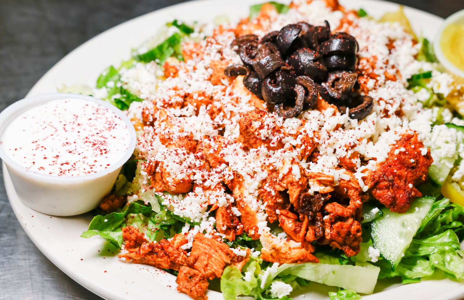
[[[289,9],[288,6],[276,2],[271,4],[278,12],[286,12]],[[260,9],[261,5],[251,6],[251,17],[256,16]],[[362,9],[358,14],[360,17],[369,17]],[[392,18],[396,20],[404,18],[404,15],[401,17],[396,14]],[[137,95],[122,87],[119,75],[122,68],[129,69],[136,63],[152,61],[161,65],[170,57],[183,60],[180,43],[189,38],[194,28],[177,20],[168,24],[168,27],[172,26],[177,27],[178,31],[151,50],[135,53],[130,60],[122,62],[119,68],[111,66],[103,71],[98,77],[97,88],[106,90],[107,96],[104,100],[122,110],[128,109],[130,103],[134,101],[142,101]],[[418,59],[436,62],[431,44],[425,38],[420,38],[419,43],[422,47]],[[443,124],[439,118],[440,109],[446,107],[447,102],[443,94],[436,94],[428,87],[427,83],[431,77],[430,71],[412,75],[408,80],[409,88],[414,92],[425,89],[430,94],[429,99],[423,101],[423,105],[439,107],[436,124]],[[451,124],[448,126],[464,132],[464,127]],[[433,275],[437,269],[442,270],[446,277],[463,280],[464,253],[459,241],[464,238],[464,207],[450,202],[450,199],[443,195],[464,194],[457,183],[452,185],[451,181],[445,181],[460,162],[459,158],[453,158],[451,166],[454,167],[431,168],[430,182],[419,188],[424,196],[414,200],[406,213],[391,212],[374,200],[364,204],[363,242],[358,255],[348,258],[340,250],[322,246],[316,253],[320,263],[280,266],[264,262],[259,256],[251,256],[241,272],[233,266],[224,270],[219,283],[224,298],[235,300],[238,295],[251,295],[261,300],[279,299],[278,293],[276,294],[272,289],[276,282],[288,283],[296,289],[314,281],[339,287],[338,292],[329,293],[332,300],[359,299],[361,297],[357,293],[373,292],[377,279],[398,277],[403,284],[413,283]],[[149,186],[149,182],[146,182],[140,169],[137,169],[137,161],[130,160],[121,170],[113,193],[136,194],[142,200],[132,202],[119,211],[109,214],[99,209],[95,210],[95,217],[82,237],[99,235],[121,248],[123,243],[121,229],[125,226],[136,227],[146,233],[150,240],[160,241],[162,238],[173,237],[174,234],[180,233],[186,224],[198,225],[173,214],[161,204],[162,199],[158,195],[149,189],[143,189],[143,186]],[[453,198],[453,201],[459,202],[458,196]],[[282,231],[280,227],[270,226],[275,234]],[[245,233],[233,242],[228,240],[224,242],[232,248],[254,248],[258,251],[261,249],[259,240],[252,240]],[[380,253],[375,253],[376,250]],[[175,271],[167,271],[176,274]],[[283,296],[280,299],[288,298]]]

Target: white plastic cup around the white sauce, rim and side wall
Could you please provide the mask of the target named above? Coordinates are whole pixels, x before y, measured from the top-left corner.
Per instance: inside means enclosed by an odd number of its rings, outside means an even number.
[[[79,94],[45,94],[19,100],[0,113],[0,137],[8,125],[22,113],[51,100],[81,99],[108,108],[119,116],[129,131],[129,148],[119,161],[107,169],[77,176],[48,175],[26,169],[14,162],[0,146],[0,158],[5,162],[13,187],[19,199],[30,208],[54,215],[73,216],[96,208],[102,198],[111,191],[122,165],[135,150],[135,129],[129,118],[115,106],[90,96]]]

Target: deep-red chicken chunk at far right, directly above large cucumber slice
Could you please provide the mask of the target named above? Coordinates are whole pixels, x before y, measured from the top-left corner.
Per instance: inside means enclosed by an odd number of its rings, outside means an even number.
[[[371,194],[392,212],[406,212],[412,200],[422,196],[415,186],[425,181],[433,159],[430,150],[422,155],[421,148],[424,144],[417,134],[404,134],[393,145],[387,160],[364,177]]]

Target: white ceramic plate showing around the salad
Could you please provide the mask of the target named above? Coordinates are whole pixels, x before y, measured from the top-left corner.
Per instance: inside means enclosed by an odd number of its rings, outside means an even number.
[[[244,17],[249,6],[264,0],[197,0],[171,6],[130,20],[103,32],[65,56],[48,71],[29,92],[28,96],[55,92],[62,83],[94,85],[100,72],[111,64],[128,59],[130,50],[155,35],[156,28],[180,19],[209,21],[218,15],[229,19]],[[374,0],[344,0],[348,8],[364,8],[370,15],[380,16],[397,9],[396,4]],[[415,31],[432,39],[443,19],[415,9],[406,8]],[[121,41],[124,41],[121,44]],[[87,229],[90,215],[57,218],[36,212],[25,206],[14,191],[10,177],[3,167],[5,186],[11,206],[19,223],[32,242],[55,265],[90,291],[106,299],[189,299],[175,290],[175,277],[156,268],[126,263],[117,258],[108,244],[99,237],[79,237]],[[349,274],[347,274],[349,276]],[[435,279],[401,286],[398,281],[389,285],[378,284],[376,294],[365,299],[459,299],[464,285],[449,279]],[[312,291],[306,299],[328,299],[327,292],[336,291],[316,283],[309,284]],[[316,290],[316,291],[314,291]],[[222,295],[209,291],[211,300]],[[299,297],[296,297],[298,299]]]

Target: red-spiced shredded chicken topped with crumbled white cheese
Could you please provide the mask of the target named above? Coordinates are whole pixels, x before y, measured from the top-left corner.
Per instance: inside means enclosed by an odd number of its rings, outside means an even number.
[[[139,132],[136,154],[145,188],[174,214],[200,225],[186,224],[181,233],[159,242],[148,241],[133,227],[123,228],[127,252],[119,257],[178,271],[177,289],[193,299],[206,299],[208,280],[220,278],[227,266],[241,269],[248,261],[253,250],[232,250],[224,243],[243,234],[259,240],[259,255],[267,262],[319,262],[314,252],[320,245],[356,255],[363,203],[375,198],[393,212],[405,212],[421,196],[417,186],[426,181],[432,164],[419,133],[403,122],[417,101],[403,90],[404,95],[388,91],[406,84],[400,70],[387,63],[396,44],[385,37],[393,34],[381,36],[385,43],[379,47],[386,52],[380,56],[367,48],[366,36],[381,33],[369,33],[337,1],[300,0],[290,7],[295,24],[324,26],[328,19],[328,34],[347,32],[359,42],[358,63],[350,73],[355,75],[342,77],[334,87],[349,86],[356,97],[371,101],[363,119],[353,119],[346,105],[317,91],[311,108],[283,117],[277,106],[259,97],[259,90],[245,87],[248,75],[225,73],[230,65],[244,64],[240,37],[262,38],[287,25],[270,5],[253,20],[220,25],[204,41],[183,44],[185,62],[164,63],[166,78],[157,79],[155,89],[131,85],[131,70],[122,76],[127,88],[145,99],[129,109]],[[322,16],[309,13],[313,9]],[[398,40],[412,41],[395,30]],[[279,64],[281,71],[291,73],[284,64]],[[309,80],[298,82],[307,85]],[[308,91],[301,86],[289,93],[298,97]],[[102,208],[117,205],[117,199],[107,199]],[[271,233],[272,224],[283,232]]]

